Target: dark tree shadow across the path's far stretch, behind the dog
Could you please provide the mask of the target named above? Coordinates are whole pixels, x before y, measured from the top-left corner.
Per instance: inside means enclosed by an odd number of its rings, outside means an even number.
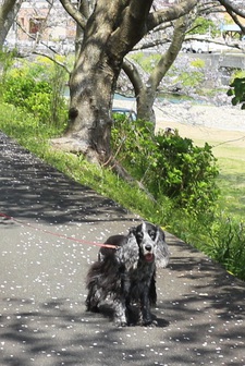
[[[4,134],[0,137],[3,213],[57,224],[135,219],[112,199],[69,179]]]

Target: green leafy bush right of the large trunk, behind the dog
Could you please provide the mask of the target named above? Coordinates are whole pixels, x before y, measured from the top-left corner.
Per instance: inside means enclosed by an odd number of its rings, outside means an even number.
[[[177,133],[151,135],[150,124],[119,118],[112,129],[112,148],[121,163],[158,198],[173,198],[176,206],[200,212],[217,197],[218,168],[211,147],[193,145]]]

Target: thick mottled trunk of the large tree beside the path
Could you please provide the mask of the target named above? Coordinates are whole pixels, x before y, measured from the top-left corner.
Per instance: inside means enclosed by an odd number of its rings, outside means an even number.
[[[59,147],[93,162],[110,160],[111,107],[124,56],[143,37],[152,0],[97,1],[70,78],[69,127]]]

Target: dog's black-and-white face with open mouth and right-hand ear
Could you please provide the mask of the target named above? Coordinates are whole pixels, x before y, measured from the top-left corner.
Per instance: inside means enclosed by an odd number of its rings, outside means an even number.
[[[131,232],[135,235],[142,259],[147,263],[156,261],[159,267],[168,265],[169,251],[166,235],[159,227],[144,221]]]

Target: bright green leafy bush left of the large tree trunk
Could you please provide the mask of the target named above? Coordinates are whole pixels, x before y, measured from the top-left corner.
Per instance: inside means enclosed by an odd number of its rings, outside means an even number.
[[[13,68],[2,80],[2,101],[33,113],[41,123],[65,123],[66,105],[63,98],[64,72],[60,66],[41,62]]]

